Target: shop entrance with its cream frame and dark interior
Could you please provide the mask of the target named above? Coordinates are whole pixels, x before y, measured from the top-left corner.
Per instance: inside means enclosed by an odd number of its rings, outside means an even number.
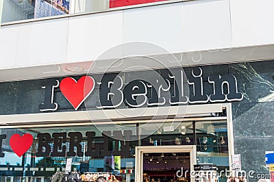
[[[135,181],[194,182],[196,146],[136,146]]]

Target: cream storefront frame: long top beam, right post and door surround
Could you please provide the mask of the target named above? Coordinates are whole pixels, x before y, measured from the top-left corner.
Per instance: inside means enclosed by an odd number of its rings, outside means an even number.
[[[182,109],[181,107],[187,107]],[[146,112],[143,116],[152,116],[151,114],[155,109],[161,107],[151,107],[146,108]],[[189,121],[201,121],[201,120],[227,120],[227,136],[229,138],[228,148],[229,148],[229,170],[231,170],[232,159],[231,155],[234,154],[234,141],[233,141],[233,124],[232,124],[232,104],[231,103],[218,103],[218,104],[208,104],[208,105],[188,105],[188,106],[173,106],[169,107],[171,109],[171,114],[173,112],[178,112],[180,110],[186,110],[184,113],[185,117],[179,118],[178,120]],[[180,109],[181,108],[181,109]],[[226,110],[226,116],[221,117],[206,117],[205,114],[212,112],[223,112]],[[119,109],[117,110],[100,110],[100,111],[90,111],[93,112],[94,116],[97,116],[97,124],[108,125],[108,124],[122,124],[122,123],[140,123],[148,122],[148,120],[123,120],[125,118],[119,118]],[[100,114],[104,112],[104,114]],[[90,114],[90,113],[89,113]],[[176,113],[179,116],[178,113]],[[90,122],[88,112],[58,112],[58,113],[43,113],[43,114],[18,114],[18,115],[2,115],[0,116],[1,128],[29,128],[29,127],[58,127],[58,126],[79,126],[85,125]],[[112,116],[109,119],[121,119],[120,121],[101,121],[105,119],[104,117]],[[187,117],[186,117],[187,116]],[[101,118],[100,118],[101,117]],[[100,118],[100,119],[99,119]],[[139,118],[140,119],[140,118]],[[164,122],[171,122],[174,119],[164,119]],[[48,123],[47,123],[47,122]],[[74,121],[74,122],[72,122]],[[78,122],[77,122],[78,121]],[[56,123],[54,123],[56,122]],[[152,121],[150,121],[152,122]],[[163,122],[163,120],[153,120],[153,122]],[[171,151],[172,148],[172,151]],[[197,164],[197,150],[195,145],[189,146],[136,146],[136,181],[142,179],[142,154],[143,153],[156,153],[156,152],[189,152],[190,153],[190,170],[193,170],[195,164]],[[193,181],[194,179],[191,179]]]

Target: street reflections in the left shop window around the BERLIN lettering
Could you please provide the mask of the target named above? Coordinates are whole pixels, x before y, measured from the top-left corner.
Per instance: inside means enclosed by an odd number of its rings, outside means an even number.
[[[132,127],[128,126],[127,127]],[[88,149],[88,138],[86,138],[87,131],[95,131],[95,136],[92,140],[92,152],[96,153],[92,156],[86,155],[85,151]],[[113,128],[110,132],[114,132]],[[68,133],[69,132],[80,132],[82,133],[81,150],[84,152],[83,156],[69,157],[69,146],[71,144]],[[18,133],[23,135],[24,133],[29,133],[34,137],[34,142],[29,150],[22,157],[18,157],[12,148],[10,148],[10,137]],[[51,140],[49,142],[51,153],[45,157],[37,157],[38,152],[38,138],[36,138],[38,133],[49,133],[51,135]],[[53,156],[53,145],[54,138],[53,133],[66,133],[66,141],[62,142],[62,146],[58,147],[58,152],[62,152],[62,147],[66,146],[66,153],[62,157]],[[84,172],[109,172],[114,174],[116,179],[134,179],[134,166],[135,166],[135,146],[137,144],[134,140],[134,135],[132,136],[132,141],[129,144],[129,156],[125,156],[125,151],[123,151],[124,141],[118,141],[102,135],[102,131],[98,131],[96,127],[91,125],[86,125],[82,127],[42,127],[42,128],[32,128],[32,129],[0,129],[1,135],[7,135],[7,138],[3,140],[2,152],[5,153],[5,157],[0,158],[0,181],[10,180],[19,181],[19,178],[30,178],[35,181],[51,181],[51,176],[56,171],[64,171],[66,169],[66,159],[72,158],[72,171]],[[136,139],[136,136],[135,136]],[[105,145],[105,141],[108,143]],[[108,152],[110,155],[105,155],[104,147],[108,146]],[[46,151],[47,148],[43,148],[42,151]],[[77,152],[77,148],[74,148]],[[121,155],[117,155],[121,152]],[[12,178],[12,179],[10,179]],[[18,178],[18,179],[17,179]],[[29,179],[31,180],[31,179]]]

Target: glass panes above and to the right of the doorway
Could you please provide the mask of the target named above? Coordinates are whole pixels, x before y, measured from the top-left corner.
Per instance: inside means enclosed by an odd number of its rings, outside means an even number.
[[[151,123],[142,127],[141,133],[150,129],[157,131],[147,137],[141,135],[142,146],[196,145],[197,164],[214,164],[218,172],[229,170],[227,120]],[[219,181],[226,181],[225,173],[219,174],[223,175]]]

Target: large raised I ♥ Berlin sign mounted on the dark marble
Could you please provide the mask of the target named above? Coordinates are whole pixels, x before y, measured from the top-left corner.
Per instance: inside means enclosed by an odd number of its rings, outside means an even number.
[[[95,80],[91,76],[81,77],[78,81],[71,77],[60,81],[50,80],[42,82],[45,89],[45,99],[40,104],[40,111],[55,111],[58,103],[53,100],[55,88],[60,87],[60,91],[66,99],[73,105],[75,110],[88,98],[95,86],[99,86],[99,98],[97,108],[115,108],[122,103],[129,107],[142,107],[143,105],[170,105],[187,103],[215,103],[225,101],[241,101],[242,94],[238,92],[236,77],[232,74],[210,75],[208,83],[212,85],[212,94],[203,94],[203,78],[201,68],[193,68],[192,75],[184,80],[182,69],[164,70],[160,73],[162,83],[158,78],[135,79],[129,83],[123,83],[119,73],[106,73],[101,80]],[[191,94],[184,93],[186,84],[192,88]],[[60,86],[59,86],[60,85]],[[227,88],[227,93],[224,92]],[[164,92],[169,92],[166,98]],[[136,99],[138,97],[138,99]],[[137,101],[138,100],[138,101]]]

